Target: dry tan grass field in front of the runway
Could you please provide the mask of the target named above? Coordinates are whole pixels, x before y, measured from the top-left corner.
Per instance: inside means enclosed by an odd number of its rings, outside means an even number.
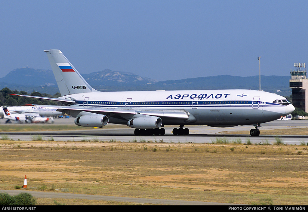
[[[0,140],[0,189],[307,205],[307,145]],[[39,205],[134,203],[38,198]]]

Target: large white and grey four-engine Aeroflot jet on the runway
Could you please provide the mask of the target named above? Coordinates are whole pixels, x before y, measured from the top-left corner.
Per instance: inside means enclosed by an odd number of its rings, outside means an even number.
[[[188,135],[185,125],[233,127],[253,125],[258,136],[261,123],[289,115],[294,106],[283,96],[255,90],[180,90],[99,92],[92,88],[60,50],[44,50],[51,64],[59,98],[24,96],[61,102],[61,111],[83,127],[125,124],[134,134],[164,135],[165,125],[178,125],[174,135]],[[53,106],[51,106],[53,107]]]

